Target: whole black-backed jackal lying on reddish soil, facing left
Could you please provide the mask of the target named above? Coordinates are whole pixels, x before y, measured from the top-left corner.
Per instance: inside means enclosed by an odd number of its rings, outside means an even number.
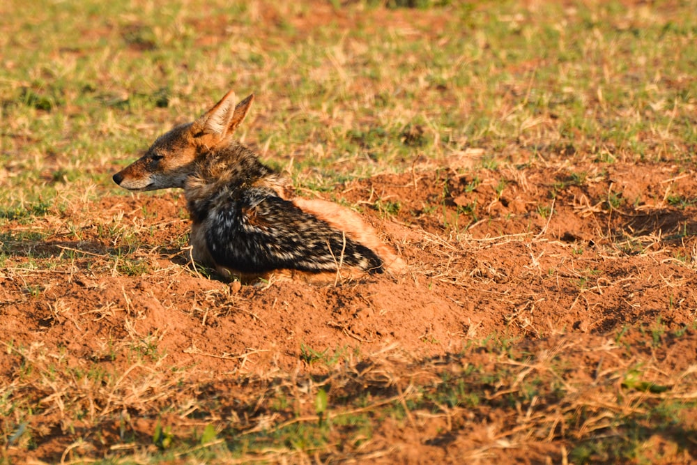
[[[290,198],[288,181],[264,165],[234,130],[252,105],[233,93],[192,123],[158,137],[114,174],[129,190],[183,188],[192,257],[244,282],[272,273],[315,281],[347,270],[399,273],[404,262],[359,215],[330,201]]]

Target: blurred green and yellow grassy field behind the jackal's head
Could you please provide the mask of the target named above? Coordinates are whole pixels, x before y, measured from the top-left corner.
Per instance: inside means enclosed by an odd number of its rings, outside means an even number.
[[[229,89],[256,94],[238,136],[315,190],[470,154],[691,160],[696,10],[694,1],[6,0],[0,202],[47,201],[71,185],[125,194],[112,172]]]

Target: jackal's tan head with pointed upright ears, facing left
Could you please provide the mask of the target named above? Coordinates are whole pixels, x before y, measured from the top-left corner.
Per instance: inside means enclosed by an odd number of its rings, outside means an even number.
[[[158,137],[141,158],[114,174],[129,190],[183,188],[207,153],[229,144],[245,119],[254,94],[234,105],[232,91],[193,123],[178,125]]]

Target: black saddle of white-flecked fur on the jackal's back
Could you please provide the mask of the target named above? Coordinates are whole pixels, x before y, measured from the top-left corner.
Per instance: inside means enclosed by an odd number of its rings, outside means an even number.
[[[223,188],[197,205],[206,211],[192,211],[192,217],[205,225],[206,246],[218,267],[263,273],[330,271],[344,265],[382,272],[375,252],[269,188]]]

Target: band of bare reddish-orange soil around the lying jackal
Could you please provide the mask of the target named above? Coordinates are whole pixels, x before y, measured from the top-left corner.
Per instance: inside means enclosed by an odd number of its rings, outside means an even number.
[[[669,201],[697,199],[694,171],[557,161],[461,175],[453,165],[417,164],[406,174],[337,186],[327,197],[358,206],[409,271],[328,286],[240,287],[198,275],[176,245],[188,228],[181,192],[87,202],[82,213],[73,212],[84,215],[79,240],[75,231],[56,227],[53,236],[26,243],[27,255],[59,257],[54,270],[3,271],[0,338],[14,346],[40,344],[61,353],[68,366],[98,362],[116,372],[132,365],[118,344],[145,341],[166,354],[162,366],[185,369],[188,381],[221,381],[216,395],[224,397],[236,387],[222,380],[236,376],[325,371],[307,363],[307,347],[361,356],[399,351],[418,365],[505,335],[533,351],[583,347],[565,356],[588,368],[598,363],[589,351],[622,328],[658,322],[671,331],[696,321],[697,208]],[[130,258],[141,259],[144,273],[125,273],[107,261],[125,239],[105,238],[100,230],[118,222],[141,226],[146,247]],[[18,233],[36,224],[14,228]],[[22,250],[20,243],[15,250]],[[82,253],[68,257],[70,250]],[[40,297],[28,289],[40,289]],[[662,355],[654,353],[656,363],[678,371],[694,364],[697,337],[690,331],[667,343]],[[0,356],[3,383],[16,379],[22,360],[9,349]],[[54,411],[33,420],[45,433],[33,457],[50,461],[69,445],[55,434],[58,417]],[[452,460],[477,442],[475,432],[457,429],[447,443],[429,442],[428,434],[408,437],[397,426],[390,432],[383,425],[381,434],[403,459],[418,453]],[[540,447],[542,460],[547,446]],[[501,449],[493,457],[524,463],[528,454]],[[559,459],[558,451],[551,457]]]

